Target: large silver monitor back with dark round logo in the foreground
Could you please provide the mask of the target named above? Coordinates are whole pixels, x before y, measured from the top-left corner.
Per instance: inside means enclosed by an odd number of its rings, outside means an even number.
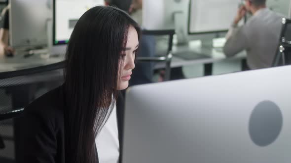
[[[290,72],[130,87],[122,163],[290,163]]]

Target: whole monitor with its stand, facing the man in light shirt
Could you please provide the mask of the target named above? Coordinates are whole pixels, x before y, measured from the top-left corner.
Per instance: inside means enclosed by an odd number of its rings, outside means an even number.
[[[222,48],[224,36],[241,2],[242,0],[190,0],[185,27],[188,40],[201,40],[201,46],[206,48]]]

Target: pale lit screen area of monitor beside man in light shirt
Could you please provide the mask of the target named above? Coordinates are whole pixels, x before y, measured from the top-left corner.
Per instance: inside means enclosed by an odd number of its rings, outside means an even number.
[[[241,0],[190,0],[188,33],[227,31]]]

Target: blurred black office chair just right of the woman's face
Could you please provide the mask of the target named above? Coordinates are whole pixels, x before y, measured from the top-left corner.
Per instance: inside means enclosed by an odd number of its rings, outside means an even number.
[[[171,60],[172,60],[172,46],[173,46],[173,36],[175,34],[175,30],[143,30],[143,35],[149,36],[168,36],[167,39],[167,47],[165,52],[162,54],[156,54],[155,56],[140,56],[137,58],[138,61],[146,61],[146,62],[165,62],[165,81],[170,79],[171,74]],[[156,47],[159,49],[160,47]]]

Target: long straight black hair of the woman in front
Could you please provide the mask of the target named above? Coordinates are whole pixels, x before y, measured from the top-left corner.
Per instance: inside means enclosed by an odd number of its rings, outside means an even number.
[[[118,69],[129,27],[139,25],[124,11],[96,6],[76,23],[66,52],[66,163],[95,163],[95,137],[118,96]],[[112,98],[113,95],[113,98]]]

